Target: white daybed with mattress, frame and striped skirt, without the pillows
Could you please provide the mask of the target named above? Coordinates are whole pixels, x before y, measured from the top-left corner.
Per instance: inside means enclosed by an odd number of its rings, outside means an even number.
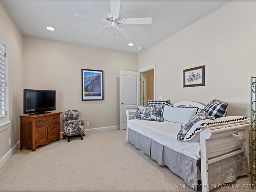
[[[196,102],[178,102],[174,106],[204,108]],[[248,118],[217,126],[208,124],[197,133],[200,141],[186,142],[177,140],[180,124],[131,120],[135,113],[136,110],[126,111],[126,141],[159,165],[167,166],[194,190],[202,188],[202,192],[206,192],[249,174]],[[202,184],[198,185],[198,180]]]

